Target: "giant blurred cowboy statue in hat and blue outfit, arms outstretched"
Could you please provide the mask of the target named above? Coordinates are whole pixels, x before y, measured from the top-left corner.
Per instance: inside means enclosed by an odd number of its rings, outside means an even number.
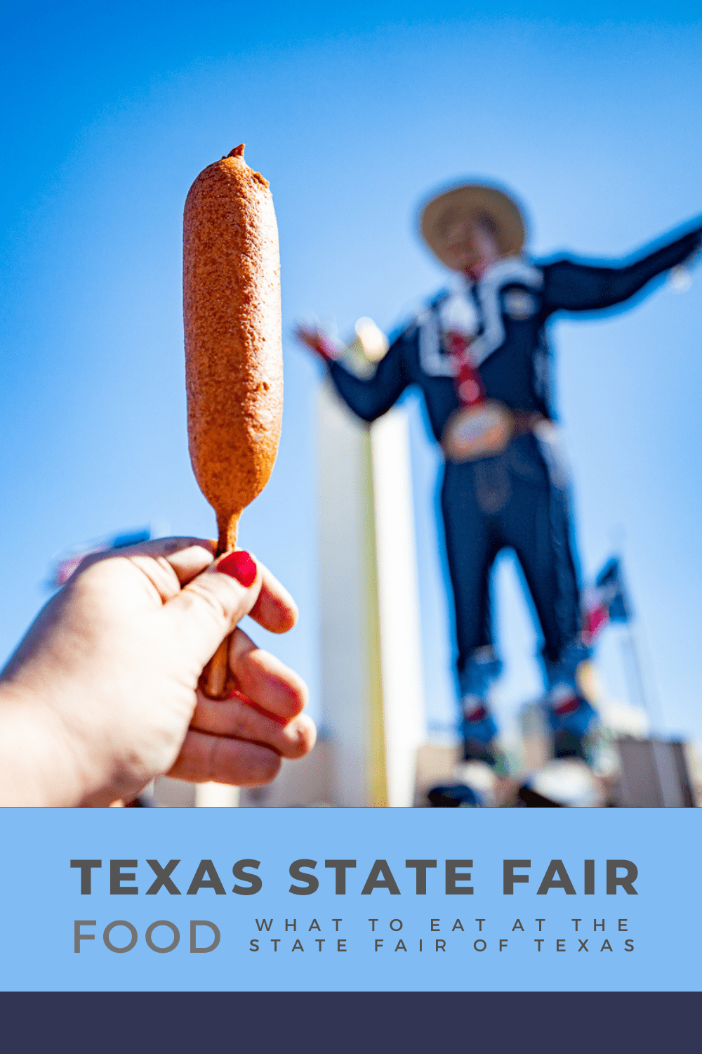
[[[372,376],[338,362],[339,349],[320,330],[298,333],[324,358],[337,391],[363,421],[385,413],[408,385],[424,395],[445,455],[441,511],[464,757],[500,762],[488,705],[500,671],[489,578],[497,554],[509,547],[543,633],[555,755],[589,760],[597,719],[576,676],[589,647],[582,633],[568,480],[551,411],[546,329],[556,312],[611,308],[682,265],[700,247],[702,227],[633,262],[538,262],[524,253],[526,225],[515,199],[496,187],[467,183],[429,200],[420,229],[459,282],[402,330]]]

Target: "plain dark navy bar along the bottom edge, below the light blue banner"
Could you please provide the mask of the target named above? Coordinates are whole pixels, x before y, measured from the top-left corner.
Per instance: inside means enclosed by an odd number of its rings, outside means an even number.
[[[0,994],[3,1049],[316,1052],[680,1050],[687,992],[42,992]]]

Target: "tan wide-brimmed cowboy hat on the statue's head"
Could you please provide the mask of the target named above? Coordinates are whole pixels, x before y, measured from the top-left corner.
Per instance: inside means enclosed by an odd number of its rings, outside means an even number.
[[[457,219],[470,217],[495,234],[500,256],[521,252],[526,240],[524,212],[514,196],[489,183],[461,183],[429,198],[421,207],[419,229],[427,246],[446,267],[443,239]]]

